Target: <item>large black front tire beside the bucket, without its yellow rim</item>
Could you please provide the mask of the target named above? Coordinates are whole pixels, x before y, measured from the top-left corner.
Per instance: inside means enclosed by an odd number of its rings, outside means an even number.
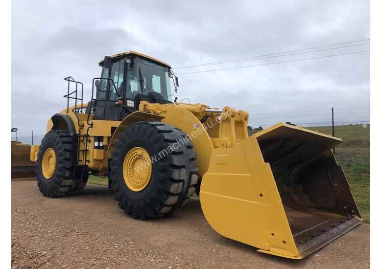
[[[147,185],[134,191],[125,182],[123,166],[125,157],[137,148],[153,161]],[[151,219],[170,215],[186,205],[198,180],[196,152],[192,148],[185,133],[166,123],[141,121],[127,127],[110,163],[111,186],[119,207],[135,219]]]

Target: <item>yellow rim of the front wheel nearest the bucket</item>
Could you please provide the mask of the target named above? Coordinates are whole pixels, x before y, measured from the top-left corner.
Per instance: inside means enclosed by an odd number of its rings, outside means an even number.
[[[150,156],[143,148],[132,148],[125,156],[123,179],[130,190],[142,191],[150,181],[151,170]]]

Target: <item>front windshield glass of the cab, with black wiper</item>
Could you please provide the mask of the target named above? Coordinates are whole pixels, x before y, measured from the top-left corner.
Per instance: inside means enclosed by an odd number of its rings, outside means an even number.
[[[143,79],[143,85],[141,88],[140,74]],[[137,93],[147,95],[149,90],[153,90],[162,95],[163,100],[172,101],[171,89],[168,76],[168,67],[158,65],[154,62],[136,58],[133,68],[128,69],[128,83],[126,89],[126,97],[134,98]],[[149,89],[147,89],[149,88]]]

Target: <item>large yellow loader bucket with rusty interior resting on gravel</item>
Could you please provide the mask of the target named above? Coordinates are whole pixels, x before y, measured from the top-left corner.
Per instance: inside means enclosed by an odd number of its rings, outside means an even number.
[[[362,220],[332,149],[341,139],[276,124],[214,149],[200,202],[221,235],[301,259]]]

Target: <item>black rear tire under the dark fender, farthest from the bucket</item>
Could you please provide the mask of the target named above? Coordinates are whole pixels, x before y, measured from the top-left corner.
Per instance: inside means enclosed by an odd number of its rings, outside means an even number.
[[[86,185],[86,182],[74,181],[74,167],[72,166],[72,137],[66,131],[52,130],[44,136],[37,155],[37,185],[40,192],[46,197],[69,196],[79,193]],[[55,158],[55,167],[52,175],[48,171],[43,171],[44,155],[46,152]],[[52,153],[54,152],[54,154]],[[52,159],[52,161],[53,161]],[[49,173],[48,173],[49,174]],[[50,177],[49,177],[50,176]],[[88,180],[89,175],[86,177]]]

